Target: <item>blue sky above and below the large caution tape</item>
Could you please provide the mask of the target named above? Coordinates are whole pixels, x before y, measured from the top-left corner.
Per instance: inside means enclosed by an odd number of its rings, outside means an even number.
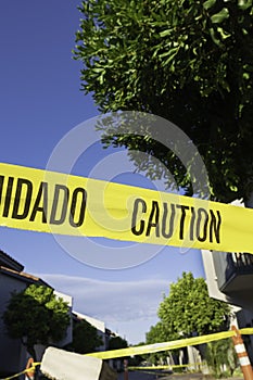
[[[79,25],[78,1],[5,1],[0,12],[0,161],[45,168],[58,142],[75,126],[97,116],[90,96],[79,90],[80,63],[72,59]],[[97,143],[81,159],[89,174],[114,151]],[[122,153],[121,153],[122,154]],[[124,175],[125,167],[110,166],[111,176],[138,186],[139,175]],[[113,173],[115,170],[115,174]],[[97,170],[101,179],[104,170]],[[119,175],[121,174],[121,175]],[[139,265],[104,269],[84,264],[55,241],[53,236],[0,229],[0,249],[20,261],[26,271],[39,275],[56,290],[74,296],[74,308],[104,320],[130,343],[144,340],[156,322],[156,309],[169,283],[192,271],[203,276],[200,253],[173,248],[151,251],[146,244],[124,244],[102,239],[83,241],[84,257],[99,254],[106,267],[109,250],[139,257]],[[84,258],[85,261],[85,258]]]

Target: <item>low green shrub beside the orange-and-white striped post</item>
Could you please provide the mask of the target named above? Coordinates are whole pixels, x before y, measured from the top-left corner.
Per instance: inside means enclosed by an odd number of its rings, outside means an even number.
[[[231,339],[207,343],[205,357],[215,378],[232,377],[238,366],[237,353]],[[224,365],[229,372],[225,371]]]

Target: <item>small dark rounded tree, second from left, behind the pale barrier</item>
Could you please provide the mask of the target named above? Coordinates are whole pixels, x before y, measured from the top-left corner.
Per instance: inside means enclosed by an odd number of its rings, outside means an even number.
[[[88,354],[103,344],[102,338],[98,335],[97,329],[87,320],[74,325],[72,349],[78,354]]]

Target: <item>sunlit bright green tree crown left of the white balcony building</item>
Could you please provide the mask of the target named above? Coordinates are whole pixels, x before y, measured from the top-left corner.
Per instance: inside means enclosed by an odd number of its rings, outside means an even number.
[[[228,304],[208,296],[203,278],[184,273],[172,283],[169,295],[160,304],[159,317],[172,333],[191,337],[206,334],[228,327],[230,309]]]

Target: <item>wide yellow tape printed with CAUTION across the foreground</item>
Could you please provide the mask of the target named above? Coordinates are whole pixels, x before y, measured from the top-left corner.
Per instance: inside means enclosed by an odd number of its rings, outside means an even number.
[[[253,253],[252,210],[10,164],[0,164],[0,226]]]

